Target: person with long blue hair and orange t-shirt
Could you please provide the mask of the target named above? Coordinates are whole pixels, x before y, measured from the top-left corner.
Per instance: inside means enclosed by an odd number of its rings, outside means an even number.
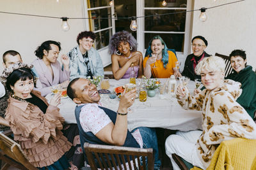
[[[175,67],[175,53],[168,50],[160,36],[154,36],[148,43],[146,57],[143,60],[144,74],[147,78],[169,78],[172,74],[181,76]]]

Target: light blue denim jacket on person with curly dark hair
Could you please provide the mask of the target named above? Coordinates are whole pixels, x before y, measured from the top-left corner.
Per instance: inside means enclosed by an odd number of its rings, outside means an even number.
[[[70,58],[70,80],[74,78],[85,78],[87,76],[87,66],[84,64],[84,58],[79,50],[79,46],[74,47],[70,52],[67,53]],[[88,57],[90,62],[90,69],[93,76],[103,76],[103,64],[101,57],[95,48],[91,48],[88,51]]]

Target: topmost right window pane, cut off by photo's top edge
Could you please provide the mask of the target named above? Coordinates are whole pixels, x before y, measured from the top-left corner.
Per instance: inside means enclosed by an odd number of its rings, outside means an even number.
[[[162,5],[162,0],[145,0],[145,7],[180,7],[180,8],[186,8],[187,6],[187,0],[166,0],[167,5]]]

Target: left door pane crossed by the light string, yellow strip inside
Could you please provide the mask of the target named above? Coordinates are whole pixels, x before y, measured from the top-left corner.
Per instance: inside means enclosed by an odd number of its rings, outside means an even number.
[[[97,18],[97,19],[89,20],[91,31],[97,31],[99,29],[111,27],[112,24],[111,24],[110,8],[92,10],[92,11],[88,11],[88,13],[89,13],[89,17]],[[109,18],[109,19],[100,19],[100,18]]]

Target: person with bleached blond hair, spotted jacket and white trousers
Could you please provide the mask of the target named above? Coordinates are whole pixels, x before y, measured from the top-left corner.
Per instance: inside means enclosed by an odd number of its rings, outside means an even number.
[[[220,57],[206,57],[195,68],[205,89],[191,96],[182,85],[177,87],[177,100],[186,110],[202,110],[202,130],[177,132],[166,139],[166,154],[173,169],[179,169],[172,159],[176,153],[184,160],[206,169],[221,141],[234,138],[256,139],[256,124],[236,102],[241,95],[241,83],[224,80],[225,62]]]

